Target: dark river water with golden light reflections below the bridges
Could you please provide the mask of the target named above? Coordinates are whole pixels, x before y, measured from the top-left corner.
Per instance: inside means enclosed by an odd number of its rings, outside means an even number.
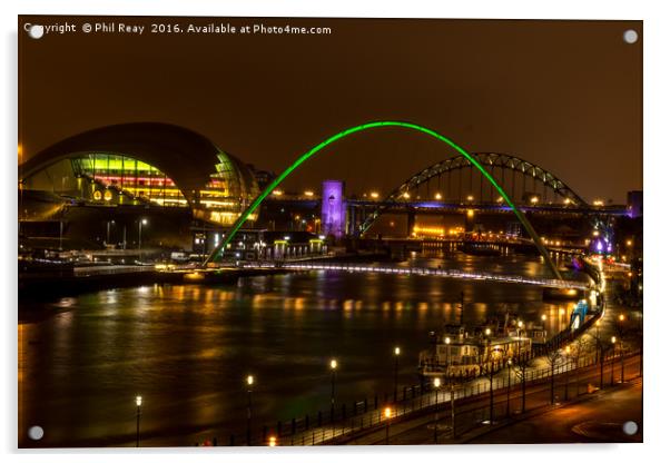
[[[411,264],[546,275],[523,256]],[[401,382],[414,383],[427,333],[459,321],[461,293],[467,324],[504,312],[538,323],[544,314],[550,332],[568,323],[569,307],[543,303],[536,287],[414,275],[314,272],[106,290],[19,326],[20,423],[43,426],[45,446],[134,445],[139,394],[147,445],[227,441],[245,430],[247,374],[257,377],[256,422],[272,425],[327,408],[333,356],[339,403],[383,395],[393,384],[392,346],[402,345]]]

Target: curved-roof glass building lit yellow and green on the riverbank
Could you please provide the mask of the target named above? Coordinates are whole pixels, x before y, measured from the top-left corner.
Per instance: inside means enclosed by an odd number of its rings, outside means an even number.
[[[249,166],[200,134],[167,124],[97,128],[19,164],[23,223],[70,223],[76,209],[97,209],[101,215],[89,215],[89,226],[102,220],[109,228],[114,215],[178,210],[200,226],[225,227],[257,194]]]

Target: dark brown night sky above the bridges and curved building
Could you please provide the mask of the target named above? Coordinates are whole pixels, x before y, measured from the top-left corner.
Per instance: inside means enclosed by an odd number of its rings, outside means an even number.
[[[23,22],[66,20],[78,32],[23,32]],[[19,19],[24,158],[91,128],[162,121],[278,173],[339,130],[390,119],[470,151],[514,154],[587,200],[621,204],[642,188],[641,21],[162,20],[331,27],[323,36],[85,35],[87,21],[102,19]],[[631,28],[634,45],[622,37]],[[339,178],[348,193],[386,194],[452,154],[416,132],[376,129],[329,147],[285,185]]]

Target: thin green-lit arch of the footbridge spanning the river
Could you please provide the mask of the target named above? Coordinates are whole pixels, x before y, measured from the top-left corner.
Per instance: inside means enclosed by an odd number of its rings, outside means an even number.
[[[500,196],[502,196],[503,199],[505,200],[505,203],[512,208],[512,210],[514,211],[514,215],[516,215],[516,218],[519,218],[519,220],[521,221],[521,224],[523,225],[523,227],[525,228],[525,230],[529,233],[529,235],[531,236],[531,238],[535,243],[535,246],[538,247],[538,249],[540,250],[540,253],[544,257],[544,262],[550,266],[552,273],[555,275],[556,278],[563,279],[563,277],[561,276],[559,269],[553,264],[553,262],[551,259],[551,256],[549,255],[549,252],[542,245],[542,243],[540,240],[540,237],[538,236],[538,234],[535,233],[535,230],[533,229],[533,227],[531,226],[531,224],[528,221],[528,219],[525,218],[525,216],[523,215],[523,213],[516,208],[516,205],[514,205],[514,203],[508,196],[508,194],[505,193],[505,190],[495,181],[495,179],[491,176],[491,174],[489,174],[489,171],[474,157],[472,157],[465,149],[461,148],[454,141],[450,140],[449,138],[444,137],[443,135],[441,135],[441,134],[439,134],[439,132],[436,132],[434,130],[431,130],[431,129],[428,129],[426,127],[418,126],[416,124],[401,122],[401,121],[395,121],[395,120],[368,122],[368,124],[363,124],[363,125],[359,125],[359,126],[351,127],[351,128],[348,128],[346,130],[343,130],[343,131],[341,131],[338,134],[333,135],[332,137],[327,138],[326,140],[322,141],[321,144],[316,145],[309,151],[305,152],[303,156],[300,156],[299,158],[297,158],[290,166],[288,166],[288,168],[286,170],[284,170],[277,178],[275,178],[265,188],[265,190],[263,190],[256,197],[256,199],[254,199],[254,201],[252,203],[252,205],[249,207],[247,207],[239,215],[239,217],[237,218],[237,220],[235,221],[235,224],[233,224],[233,226],[230,227],[230,230],[228,232],[226,238],[224,240],[221,240],[221,243],[219,243],[219,245],[211,252],[211,254],[209,255],[209,257],[207,257],[207,260],[205,260],[205,264],[208,264],[208,263],[213,262],[215,258],[217,258],[220,255],[223,255],[223,250],[226,249],[226,247],[228,246],[228,244],[235,237],[235,234],[239,230],[239,228],[242,227],[242,225],[247,220],[247,218],[249,217],[249,215],[253,214],[254,210],[256,210],[258,208],[258,206],[260,206],[260,203],[263,203],[263,200],[275,188],[277,188],[277,186],[282,181],[284,181],[284,179],[286,177],[288,177],[290,175],[290,173],[293,173],[295,169],[297,169],[303,162],[305,162],[312,156],[316,155],[318,151],[321,151],[326,146],[328,146],[328,145],[331,145],[331,144],[337,141],[337,140],[339,140],[341,138],[344,138],[344,137],[349,136],[352,134],[356,134],[358,131],[374,129],[374,128],[377,128],[377,127],[402,127],[402,128],[412,129],[412,130],[416,130],[416,131],[430,135],[431,137],[436,138],[440,141],[449,145],[451,148],[455,149],[461,156],[465,157],[470,162],[472,162],[473,166],[475,166],[482,173],[482,175],[491,183],[491,185],[493,185],[493,187],[495,187],[495,189],[497,190],[497,193],[500,193]]]

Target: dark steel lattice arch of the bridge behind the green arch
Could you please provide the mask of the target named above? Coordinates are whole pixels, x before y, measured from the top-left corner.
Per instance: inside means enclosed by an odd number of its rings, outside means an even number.
[[[545,187],[549,187],[554,194],[562,197],[568,207],[584,207],[588,206],[572,188],[570,188],[564,181],[559,179],[556,176],[548,171],[546,169],[521,159],[513,155],[500,154],[500,152],[472,152],[471,157],[475,159],[480,166],[485,169],[493,170],[494,168],[501,168],[509,170],[513,174],[520,173],[533,181],[539,181]],[[390,207],[390,204],[398,203],[402,204],[406,200],[408,193],[413,189],[417,189],[420,186],[428,183],[435,177],[450,174],[455,170],[477,168],[475,164],[461,155],[450,157],[447,159],[435,162],[403,181],[397,188],[395,188],[382,203],[381,205],[365,219],[358,227],[358,234],[364,234],[370,229],[373,223]],[[481,170],[481,169],[480,169]],[[493,177],[494,174],[490,173]],[[503,177],[504,183],[504,177]],[[503,186],[501,186],[503,187]],[[504,187],[503,187],[504,188]],[[506,190],[509,194],[509,190]],[[513,196],[513,193],[510,195]]]

